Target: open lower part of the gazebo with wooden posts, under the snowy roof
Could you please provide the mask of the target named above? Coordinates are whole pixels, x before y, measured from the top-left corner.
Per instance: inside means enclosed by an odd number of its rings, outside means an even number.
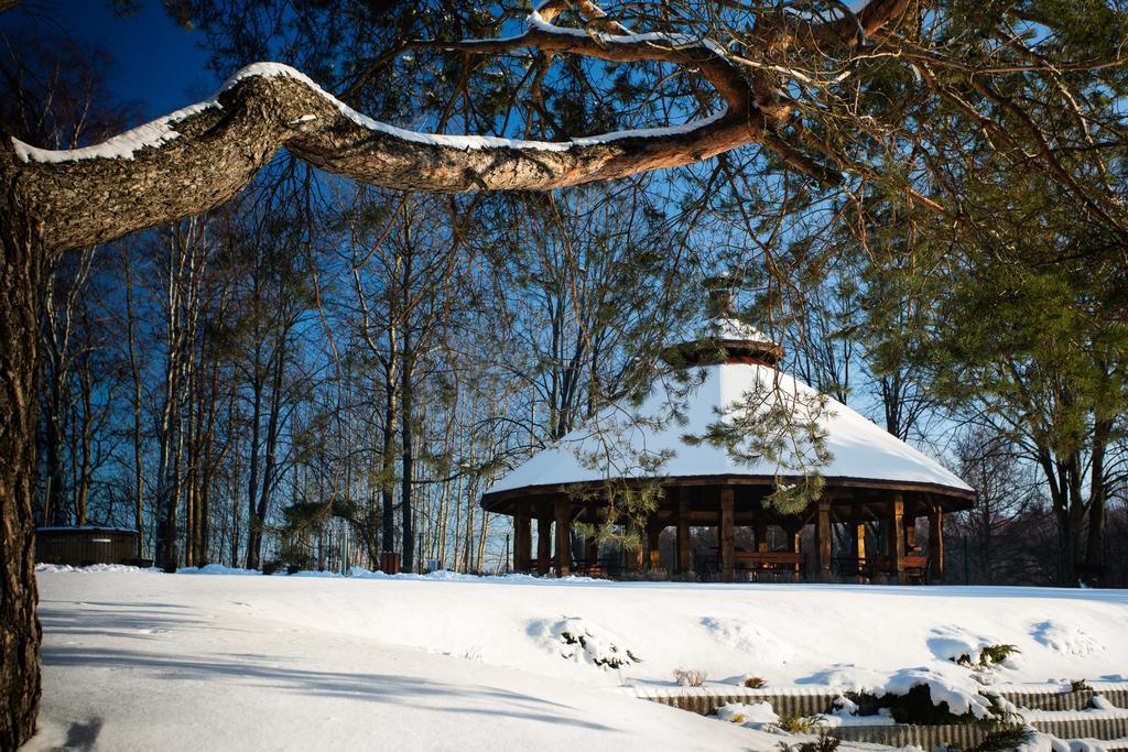
[[[484,497],[483,506],[513,517],[515,572],[923,583],[944,578],[944,515],[975,503],[973,492],[957,488],[828,478],[817,504],[781,515],[764,507],[773,488],[763,479],[669,478],[661,485],[658,508],[637,530],[644,546],[634,551],[608,550],[593,538],[573,540],[573,522],[597,527],[605,520],[606,502],[575,501],[593,496],[594,486],[587,494],[575,487],[499,492]],[[918,534],[922,519],[927,532]],[[660,555],[669,528],[670,569]],[[712,545],[700,545],[703,529]],[[575,542],[582,550],[573,550]]]

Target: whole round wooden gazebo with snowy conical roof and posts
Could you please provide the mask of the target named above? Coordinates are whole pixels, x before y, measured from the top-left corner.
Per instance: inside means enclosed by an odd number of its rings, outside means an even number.
[[[805,576],[819,581],[841,576],[866,580],[879,575],[883,581],[907,582],[915,577],[942,581],[944,514],[973,506],[975,492],[940,463],[846,405],[829,399],[821,414],[820,425],[834,459],[821,468],[826,479],[821,498],[801,514],[781,515],[761,503],[775,490],[778,467],[763,461],[741,463],[724,449],[684,441],[686,434],[704,433],[705,426],[717,419],[719,412],[731,414],[733,405],[757,384],[761,393],[769,386],[782,399],[816,395],[809,386],[776,370],[783,351],[769,338],[723,316],[715,317],[712,325],[710,336],[671,350],[673,361],[703,372],[700,386],[688,397],[668,393],[668,387],[660,384],[636,410],[623,407],[603,410],[592,422],[596,427],[572,432],[483,495],[485,510],[513,517],[513,568],[547,574],[552,564],[559,576],[573,573],[578,565],[591,570],[598,550],[589,541],[581,556],[573,554],[572,522],[602,521],[606,503],[599,501],[601,489],[608,487],[608,478],[615,478],[627,485],[656,481],[663,492],[658,508],[640,531],[646,542],[646,556],[641,550],[627,555],[628,569],[656,568],[659,536],[673,527],[675,574],[690,570],[690,528],[708,527],[716,529],[712,574],[725,581],[746,569],[776,574],[784,570],[797,577],[808,561],[812,566],[805,568]],[[679,398],[685,406],[686,424],[668,422],[664,427],[645,427],[653,425],[645,418],[661,417]],[[638,417],[644,419],[640,423]],[[616,446],[622,449],[622,469],[613,467],[617,465]],[[656,477],[626,469],[628,457],[666,451],[672,452],[672,458]],[[596,454],[608,458],[605,467],[591,467],[590,460],[580,459]],[[928,520],[926,550],[916,536],[918,517]],[[531,538],[534,521],[536,557]],[[782,550],[769,550],[768,530],[773,525],[783,531]],[[807,525],[813,525],[813,552],[800,550]],[[848,541],[848,550],[840,542],[843,550],[835,551],[836,525],[838,539]],[[841,530],[843,525],[846,530]],[[754,531],[752,550],[737,548],[739,527]],[[867,529],[873,531],[869,536],[869,550]],[[775,540],[779,539],[777,534]]]

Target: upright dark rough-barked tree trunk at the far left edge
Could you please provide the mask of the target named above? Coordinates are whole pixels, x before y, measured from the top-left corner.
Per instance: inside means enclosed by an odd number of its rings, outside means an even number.
[[[0,197],[0,749],[35,733],[41,627],[35,608],[36,352],[42,225],[18,197]]]

